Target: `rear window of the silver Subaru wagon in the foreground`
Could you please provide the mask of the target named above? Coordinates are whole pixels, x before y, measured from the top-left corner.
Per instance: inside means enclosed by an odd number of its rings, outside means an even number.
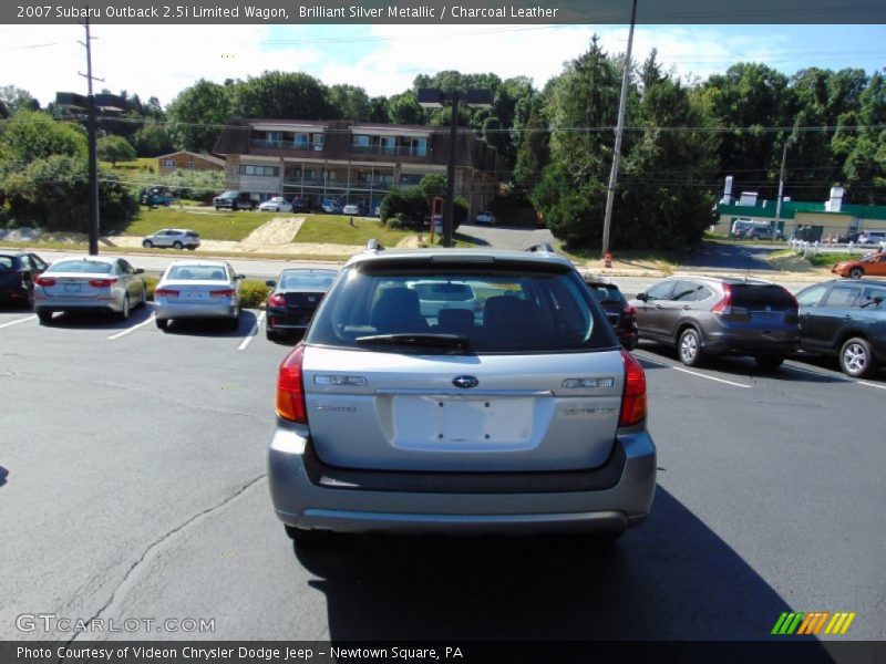
[[[453,352],[445,343],[453,340],[459,340],[457,351],[466,353],[580,352],[617,345],[605,314],[571,270],[525,263],[512,269],[390,262],[394,264],[348,268],[316,314],[306,341],[413,353]]]

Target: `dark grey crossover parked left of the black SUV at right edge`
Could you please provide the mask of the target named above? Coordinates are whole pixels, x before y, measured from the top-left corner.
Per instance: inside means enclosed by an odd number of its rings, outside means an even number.
[[[707,355],[752,355],[773,370],[800,345],[796,300],[767,281],[672,277],[630,304],[639,338],[677,346],[688,366]]]

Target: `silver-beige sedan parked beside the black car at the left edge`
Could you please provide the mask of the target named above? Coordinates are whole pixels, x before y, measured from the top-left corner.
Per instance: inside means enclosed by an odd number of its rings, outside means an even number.
[[[43,325],[56,311],[111,312],[126,320],[131,308],[147,301],[143,273],[122,258],[63,258],[34,281],[34,311]]]

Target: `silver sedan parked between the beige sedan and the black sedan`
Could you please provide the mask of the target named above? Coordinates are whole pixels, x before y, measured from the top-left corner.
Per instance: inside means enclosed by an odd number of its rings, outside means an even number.
[[[157,328],[171,320],[220,319],[231,330],[240,320],[240,280],[225,261],[178,260],[169,264],[154,290]]]

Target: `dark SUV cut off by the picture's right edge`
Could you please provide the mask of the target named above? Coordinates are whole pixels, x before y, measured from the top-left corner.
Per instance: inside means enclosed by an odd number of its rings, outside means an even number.
[[[886,282],[832,280],[800,291],[800,347],[836,355],[843,373],[865,377],[886,362]]]

